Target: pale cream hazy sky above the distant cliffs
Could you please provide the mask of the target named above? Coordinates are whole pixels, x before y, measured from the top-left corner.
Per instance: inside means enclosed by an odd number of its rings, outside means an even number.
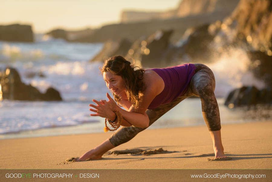
[[[118,23],[122,10],[166,11],[181,0],[0,0],[0,25],[31,24],[33,31],[98,28]]]

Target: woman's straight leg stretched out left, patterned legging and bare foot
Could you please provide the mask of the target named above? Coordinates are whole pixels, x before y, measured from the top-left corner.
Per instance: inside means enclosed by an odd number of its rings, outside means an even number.
[[[191,96],[191,95],[190,95]],[[176,100],[172,101],[169,104],[161,105],[155,109],[147,109],[146,113],[149,117],[149,126],[153,124],[157,119],[159,119],[162,115],[164,115],[167,111],[176,106],[180,101],[188,98],[187,94],[176,98]],[[105,140],[102,144],[95,147],[94,149],[83,154],[77,161],[82,161],[86,159],[101,159],[102,155],[111,150],[114,147],[117,147],[120,144],[126,143],[130,141],[133,137],[135,137],[139,132],[145,130],[146,128],[140,127],[121,127],[118,129],[112,136],[110,136],[107,140]]]

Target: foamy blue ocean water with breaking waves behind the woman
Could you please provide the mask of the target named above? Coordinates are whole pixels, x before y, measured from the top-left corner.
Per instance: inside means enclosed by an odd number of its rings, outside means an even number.
[[[106,99],[109,92],[102,75],[101,62],[89,60],[102,43],[70,43],[35,35],[34,43],[0,41],[0,69],[16,68],[25,84],[45,92],[60,91],[63,101],[0,101],[0,139],[63,134],[103,132],[104,118],[91,117],[92,99]],[[230,109],[224,106],[229,91],[241,85],[264,83],[248,71],[249,59],[243,50],[222,55],[208,65],[216,78],[221,123],[264,121],[272,118],[268,106]],[[45,77],[39,77],[41,72]],[[30,76],[32,75],[32,76]],[[170,110],[149,128],[205,125],[199,98],[189,98]]]

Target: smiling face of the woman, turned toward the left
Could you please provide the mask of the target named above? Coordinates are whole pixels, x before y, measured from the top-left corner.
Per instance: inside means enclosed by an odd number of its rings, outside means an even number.
[[[115,95],[119,95],[122,91],[126,90],[125,81],[121,76],[110,72],[104,72],[103,78],[108,89],[110,89]]]

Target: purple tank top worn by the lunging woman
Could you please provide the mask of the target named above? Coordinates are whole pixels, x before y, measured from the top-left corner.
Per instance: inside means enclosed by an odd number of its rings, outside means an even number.
[[[168,104],[186,93],[196,67],[193,64],[183,64],[168,68],[147,69],[155,71],[164,80],[164,90],[149,104],[148,109],[155,109]]]

